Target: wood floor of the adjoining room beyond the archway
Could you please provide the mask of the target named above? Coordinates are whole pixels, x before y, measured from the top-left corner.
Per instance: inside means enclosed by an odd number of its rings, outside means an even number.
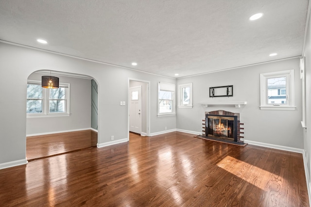
[[[95,147],[96,144],[97,132],[93,130],[27,137],[26,157],[28,161],[32,161]]]

